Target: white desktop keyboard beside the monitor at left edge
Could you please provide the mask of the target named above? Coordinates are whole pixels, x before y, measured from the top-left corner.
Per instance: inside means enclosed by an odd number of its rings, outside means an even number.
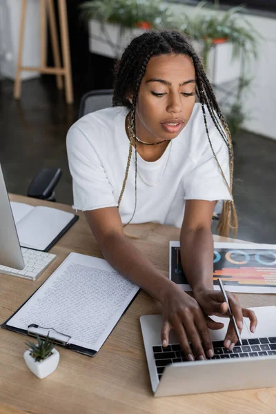
[[[32,250],[31,248],[25,247],[21,247],[21,251],[25,262],[23,270],[0,265],[0,273],[36,280],[37,277],[41,275],[43,270],[45,270],[55,259],[55,257],[57,257],[57,255],[52,255],[52,253],[40,252],[38,250]]]

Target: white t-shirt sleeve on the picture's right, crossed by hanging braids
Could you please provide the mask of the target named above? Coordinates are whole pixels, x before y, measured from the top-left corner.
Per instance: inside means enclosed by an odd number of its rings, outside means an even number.
[[[228,146],[215,125],[209,128],[209,135],[221,169],[230,186]],[[193,157],[195,168],[190,172],[189,177],[184,180],[185,199],[231,200],[232,196],[210,148],[205,130],[201,132],[195,152],[198,155],[196,159]]]

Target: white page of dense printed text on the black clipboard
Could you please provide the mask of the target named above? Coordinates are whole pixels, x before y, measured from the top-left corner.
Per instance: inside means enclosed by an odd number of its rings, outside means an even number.
[[[70,253],[7,325],[53,328],[68,344],[99,351],[138,290],[106,260]]]

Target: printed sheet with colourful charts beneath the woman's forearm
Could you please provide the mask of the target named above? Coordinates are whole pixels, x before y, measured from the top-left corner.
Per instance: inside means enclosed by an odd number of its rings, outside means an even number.
[[[248,243],[214,243],[213,281],[218,278],[226,290],[237,293],[276,293],[276,245]],[[180,257],[179,242],[170,242],[170,279],[191,290]]]

